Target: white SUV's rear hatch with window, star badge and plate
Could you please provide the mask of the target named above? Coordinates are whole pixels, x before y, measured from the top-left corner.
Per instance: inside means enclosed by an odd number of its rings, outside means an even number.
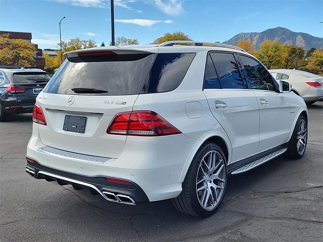
[[[38,126],[42,143],[118,158],[127,136],[106,130],[117,113],[132,110],[155,56],[136,50],[68,53],[37,99],[47,123]]]

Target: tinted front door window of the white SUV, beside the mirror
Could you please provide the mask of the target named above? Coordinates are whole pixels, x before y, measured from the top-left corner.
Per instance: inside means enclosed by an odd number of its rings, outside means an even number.
[[[274,84],[271,74],[261,66],[255,59],[245,55],[240,55],[242,64],[247,73],[251,89],[274,91]],[[277,76],[279,73],[277,74]]]

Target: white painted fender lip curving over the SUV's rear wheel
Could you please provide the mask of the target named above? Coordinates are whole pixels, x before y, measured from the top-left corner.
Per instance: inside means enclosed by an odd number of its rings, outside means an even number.
[[[186,173],[188,171],[188,168],[191,165],[191,162],[196,154],[196,152],[198,151],[198,149],[201,147],[201,145],[209,138],[214,137],[214,136],[218,136],[220,138],[222,138],[224,140],[224,142],[226,143],[227,147],[228,147],[228,161],[227,161],[227,165],[230,164],[231,161],[231,157],[232,157],[232,146],[231,146],[231,141],[229,139],[229,137],[227,136],[227,134],[225,132],[221,132],[218,130],[213,130],[213,131],[209,131],[207,133],[205,133],[204,135],[202,135],[198,140],[196,140],[196,143],[194,144],[194,146],[192,147],[185,163],[182,169],[182,173],[180,176],[180,180],[179,183],[182,183],[185,179]]]

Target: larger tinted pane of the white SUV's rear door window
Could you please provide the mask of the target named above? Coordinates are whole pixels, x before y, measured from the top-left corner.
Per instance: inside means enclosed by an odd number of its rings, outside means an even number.
[[[233,54],[211,53],[222,88],[244,88],[239,66]]]

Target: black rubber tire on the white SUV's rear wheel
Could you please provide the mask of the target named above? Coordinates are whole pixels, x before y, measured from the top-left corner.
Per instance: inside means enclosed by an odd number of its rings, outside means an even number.
[[[218,190],[219,194],[221,193],[221,197],[219,199],[217,199],[218,200],[217,204],[215,204],[214,200],[213,200],[214,194],[212,194],[212,197],[209,196],[209,198],[212,199],[211,201],[213,201],[213,204],[211,202],[208,203],[209,200],[205,199],[205,201],[207,201],[207,205],[214,206],[212,209],[206,210],[199,202],[199,198],[198,198],[199,192],[197,192],[197,186],[199,186],[199,185],[197,185],[198,184],[197,178],[198,178],[199,172],[201,172],[199,170],[199,167],[200,167],[203,157],[207,156],[208,154],[212,154],[211,151],[215,151],[215,152],[213,152],[213,154],[216,154],[216,157],[218,157],[218,162],[221,163],[218,171],[221,172],[222,175],[225,174],[225,178],[223,177],[224,182],[219,180],[219,183],[222,183],[221,186],[223,187],[223,189]],[[219,159],[220,155],[221,155],[221,158],[223,159],[223,163]],[[217,160],[217,158],[215,158],[215,160]],[[215,162],[214,164],[215,164],[214,166],[216,166],[217,162]],[[223,169],[224,169],[224,171],[223,171]],[[214,172],[215,171],[217,171],[217,169],[215,169]],[[204,173],[204,170],[202,172]],[[210,178],[210,176],[207,176],[207,174],[205,175],[205,177]],[[210,178],[210,180],[211,180],[211,178]],[[227,160],[226,160],[226,157],[225,157],[222,149],[217,144],[207,142],[207,143],[203,144],[199,148],[197,153],[195,154],[195,156],[192,160],[192,163],[187,171],[185,179],[182,183],[182,192],[177,198],[172,199],[172,202],[173,202],[174,206],[182,213],[186,213],[186,214],[193,215],[193,216],[199,216],[199,217],[211,216],[219,208],[219,206],[223,200],[225,190],[227,187],[227,180],[228,180]],[[206,188],[207,185],[213,184],[213,182],[214,182],[214,180],[209,181],[209,180],[204,179],[204,181],[202,182],[204,185],[202,185],[202,186]],[[217,193],[217,189],[215,189],[215,190],[214,190],[214,188],[212,188],[212,189],[210,189],[209,191],[212,190],[212,191],[215,191],[215,193]],[[203,199],[202,199],[202,200],[204,200],[206,189],[205,189],[205,191],[203,189],[203,191],[201,191],[201,192],[204,192]]]

